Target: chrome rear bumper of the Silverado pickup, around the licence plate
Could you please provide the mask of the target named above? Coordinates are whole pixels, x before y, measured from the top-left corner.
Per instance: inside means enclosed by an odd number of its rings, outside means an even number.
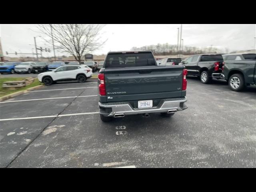
[[[123,117],[125,115],[144,114],[144,113],[175,113],[188,108],[185,102],[186,97],[164,99],[162,104],[160,103],[156,107],[138,109],[133,108],[129,102],[113,102],[113,103],[101,103],[99,102],[99,113],[108,117]],[[108,108],[109,113],[105,113],[101,108]]]

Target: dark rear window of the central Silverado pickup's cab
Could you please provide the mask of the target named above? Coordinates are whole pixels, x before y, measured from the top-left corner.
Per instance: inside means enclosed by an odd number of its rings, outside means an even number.
[[[114,53],[108,54],[105,68],[156,66],[152,53]]]

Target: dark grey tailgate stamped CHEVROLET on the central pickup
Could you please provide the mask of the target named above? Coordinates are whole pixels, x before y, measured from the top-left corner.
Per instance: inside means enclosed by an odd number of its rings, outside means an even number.
[[[182,96],[183,66],[105,68],[106,101]]]

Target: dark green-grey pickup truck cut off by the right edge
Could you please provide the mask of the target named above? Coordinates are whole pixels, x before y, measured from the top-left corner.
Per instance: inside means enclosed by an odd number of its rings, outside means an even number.
[[[246,86],[256,84],[256,59],[225,60],[222,74],[232,91],[241,91]]]

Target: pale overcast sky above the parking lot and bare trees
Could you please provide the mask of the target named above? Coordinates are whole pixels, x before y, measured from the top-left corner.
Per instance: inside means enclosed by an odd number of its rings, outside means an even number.
[[[152,44],[177,44],[177,36],[180,24],[108,24],[102,30],[102,39],[108,39],[102,49],[92,54],[106,54],[108,51],[130,50],[132,47],[141,47]],[[0,38],[4,56],[7,52],[35,52],[34,36],[41,34],[34,32],[36,25],[1,24]],[[223,52],[225,48],[233,50],[254,49],[254,37],[256,37],[255,24],[237,25],[213,25],[213,24],[183,24],[182,38],[184,46],[213,47]],[[50,48],[45,42],[36,38],[37,46]],[[29,45],[33,44],[33,45]],[[56,56],[68,55],[57,52]],[[8,55],[14,57],[15,55]],[[21,56],[21,55],[20,55]],[[28,56],[28,55],[26,55]],[[43,56],[53,56],[53,52],[43,52]]]

